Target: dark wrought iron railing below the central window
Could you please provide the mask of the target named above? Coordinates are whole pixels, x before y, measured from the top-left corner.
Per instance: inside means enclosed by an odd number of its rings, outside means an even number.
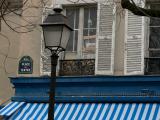
[[[94,75],[95,59],[60,60],[60,76]]]

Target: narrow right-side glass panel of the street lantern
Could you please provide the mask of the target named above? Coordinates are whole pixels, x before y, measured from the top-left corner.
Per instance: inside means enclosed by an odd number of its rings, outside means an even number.
[[[67,43],[69,40],[71,34],[71,30],[67,28],[66,26],[63,27],[63,33],[62,33],[62,40],[61,40],[61,47],[66,49]]]

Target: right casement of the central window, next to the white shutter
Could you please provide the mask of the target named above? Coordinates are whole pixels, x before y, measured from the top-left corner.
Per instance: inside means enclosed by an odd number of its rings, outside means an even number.
[[[83,55],[95,57],[97,12],[95,7],[84,8]],[[86,56],[86,57],[87,57]]]

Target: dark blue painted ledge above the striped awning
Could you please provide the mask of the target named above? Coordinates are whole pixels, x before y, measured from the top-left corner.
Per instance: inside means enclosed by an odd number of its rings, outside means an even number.
[[[48,102],[49,77],[12,77],[13,101]],[[160,102],[160,76],[57,77],[56,102]]]

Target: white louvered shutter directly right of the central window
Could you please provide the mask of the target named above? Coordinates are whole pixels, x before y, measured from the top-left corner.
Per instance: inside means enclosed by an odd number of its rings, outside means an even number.
[[[112,75],[114,68],[115,8],[98,4],[95,74]]]

